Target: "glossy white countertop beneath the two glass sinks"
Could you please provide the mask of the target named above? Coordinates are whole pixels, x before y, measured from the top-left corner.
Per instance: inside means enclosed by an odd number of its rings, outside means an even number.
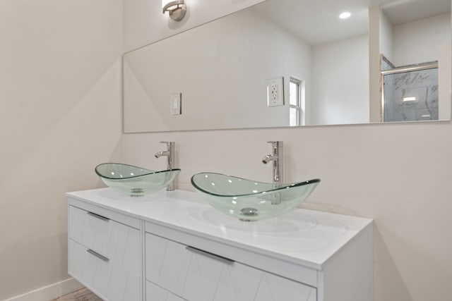
[[[184,190],[161,190],[143,197],[129,197],[101,188],[66,195],[162,226],[233,242],[254,252],[261,250],[318,270],[372,223],[371,219],[307,209],[293,209],[278,218],[244,222],[216,211],[197,192]]]

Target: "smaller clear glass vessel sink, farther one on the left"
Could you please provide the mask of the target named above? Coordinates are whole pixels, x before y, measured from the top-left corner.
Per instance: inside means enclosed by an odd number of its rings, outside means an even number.
[[[150,171],[127,164],[103,163],[96,166],[95,172],[109,188],[138,197],[165,188],[181,170]]]

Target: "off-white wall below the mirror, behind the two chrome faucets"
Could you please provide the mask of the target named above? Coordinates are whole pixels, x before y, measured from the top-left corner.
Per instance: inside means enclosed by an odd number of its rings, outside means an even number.
[[[187,190],[201,171],[270,181],[271,168],[261,164],[266,141],[283,140],[286,180],[322,179],[304,207],[375,219],[376,301],[452,295],[451,123],[128,134],[114,159],[165,168],[153,157],[160,140],[176,142],[178,185]]]

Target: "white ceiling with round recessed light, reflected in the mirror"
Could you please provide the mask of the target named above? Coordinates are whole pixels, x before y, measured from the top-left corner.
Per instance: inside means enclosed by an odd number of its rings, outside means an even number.
[[[267,0],[254,8],[309,44],[322,44],[366,35],[371,6],[381,6],[393,25],[451,12],[451,0]],[[352,16],[340,20],[343,11]]]

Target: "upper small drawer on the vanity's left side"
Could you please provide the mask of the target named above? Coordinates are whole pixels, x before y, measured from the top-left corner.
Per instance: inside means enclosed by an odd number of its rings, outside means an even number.
[[[140,231],[90,211],[69,206],[69,238],[141,274]]]

